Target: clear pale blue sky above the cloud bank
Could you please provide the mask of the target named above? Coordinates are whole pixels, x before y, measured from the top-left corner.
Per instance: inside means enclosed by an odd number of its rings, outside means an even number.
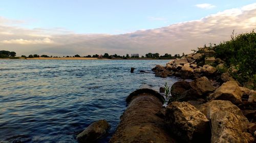
[[[255,3],[243,1],[80,1],[6,0],[0,16],[23,21],[25,28],[65,28],[77,34],[123,34],[197,20],[227,9]],[[198,4],[212,7],[199,8]]]

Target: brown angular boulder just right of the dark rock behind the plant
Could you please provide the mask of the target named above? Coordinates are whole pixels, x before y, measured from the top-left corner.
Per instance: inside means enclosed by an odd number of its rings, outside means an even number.
[[[210,80],[205,76],[189,82],[189,85],[191,88],[197,91],[199,96],[215,90]]]

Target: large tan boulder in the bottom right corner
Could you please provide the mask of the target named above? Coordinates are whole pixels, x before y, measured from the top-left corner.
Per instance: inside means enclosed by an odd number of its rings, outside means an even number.
[[[253,136],[246,132],[248,122],[229,111],[218,111],[211,118],[211,142],[251,142]]]

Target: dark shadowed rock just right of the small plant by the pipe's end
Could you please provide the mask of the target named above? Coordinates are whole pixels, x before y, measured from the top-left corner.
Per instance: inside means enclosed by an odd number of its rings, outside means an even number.
[[[181,96],[183,92],[186,90],[189,90],[191,87],[189,85],[189,82],[187,81],[177,81],[172,85],[172,88],[170,90],[170,94],[172,94],[173,98],[178,98]]]

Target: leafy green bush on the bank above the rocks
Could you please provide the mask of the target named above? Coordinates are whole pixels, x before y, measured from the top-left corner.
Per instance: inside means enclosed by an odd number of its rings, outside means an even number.
[[[216,58],[226,62],[227,67],[233,66],[237,72],[230,74],[242,84],[255,77],[256,73],[256,33],[235,35],[231,40],[214,47]],[[254,80],[255,82],[255,80]]]

